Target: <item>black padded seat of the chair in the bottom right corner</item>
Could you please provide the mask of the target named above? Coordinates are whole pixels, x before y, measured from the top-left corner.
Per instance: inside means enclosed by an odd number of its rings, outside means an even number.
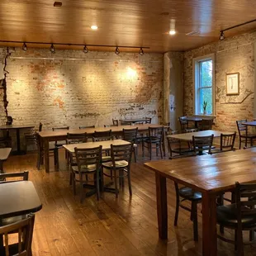
[[[235,214],[235,204],[217,207],[217,223],[224,226],[236,227],[237,216]],[[256,226],[256,216],[248,215],[242,216],[243,228],[250,228]]]

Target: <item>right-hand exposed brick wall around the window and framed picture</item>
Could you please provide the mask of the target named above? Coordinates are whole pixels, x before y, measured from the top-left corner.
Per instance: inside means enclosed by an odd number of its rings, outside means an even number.
[[[254,41],[256,32],[226,38],[184,53],[184,114],[193,114],[192,59],[216,55],[216,130],[236,130],[235,121],[254,117]],[[227,96],[225,73],[239,72],[239,95]]]

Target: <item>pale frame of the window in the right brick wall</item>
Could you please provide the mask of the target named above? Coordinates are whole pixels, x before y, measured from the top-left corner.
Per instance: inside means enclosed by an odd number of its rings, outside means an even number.
[[[199,88],[199,81],[200,81],[200,69],[199,64],[201,61],[205,60],[212,60],[212,113],[209,115],[204,115],[200,112],[200,106],[199,106],[199,98],[197,95],[197,90]],[[215,104],[215,54],[211,55],[204,55],[197,58],[193,58],[193,111],[194,115],[197,116],[215,116],[216,114],[216,104]]]

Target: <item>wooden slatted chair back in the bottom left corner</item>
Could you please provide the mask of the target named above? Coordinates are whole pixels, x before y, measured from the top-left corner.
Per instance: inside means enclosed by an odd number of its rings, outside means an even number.
[[[0,255],[31,256],[34,222],[35,216],[30,214],[25,220],[0,227],[0,235],[5,243],[4,246],[0,248]],[[18,239],[17,243],[10,244],[9,235],[13,232],[18,234]]]

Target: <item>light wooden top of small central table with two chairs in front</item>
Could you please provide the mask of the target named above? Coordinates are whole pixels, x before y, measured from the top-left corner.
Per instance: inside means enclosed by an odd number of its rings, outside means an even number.
[[[64,149],[67,149],[69,153],[74,153],[74,148],[78,149],[92,149],[102,145],[102,149],[111,149],[112,145],[128,145],[129,141],[126,140],[104,140],[104,141],[95,141],[95,142],[85,142],[85,143],[75,143],[63,145]]]

